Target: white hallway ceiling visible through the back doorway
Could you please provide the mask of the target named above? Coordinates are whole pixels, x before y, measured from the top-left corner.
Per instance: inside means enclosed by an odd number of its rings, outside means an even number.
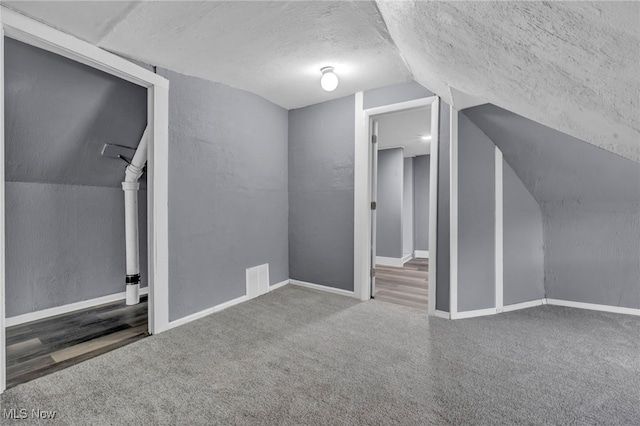
[[[405,157],[428,155],[430,141],[422,136],[431,135],[431,108],[419,108],[381,115],[378,122],[378,149],[404,148]]]

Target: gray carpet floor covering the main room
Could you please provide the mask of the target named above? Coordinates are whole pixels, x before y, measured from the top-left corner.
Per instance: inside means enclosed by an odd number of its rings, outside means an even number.
[[[43,424],[639,425],[640,318],[447,321],[290,285],[1,401],[57,411]]]

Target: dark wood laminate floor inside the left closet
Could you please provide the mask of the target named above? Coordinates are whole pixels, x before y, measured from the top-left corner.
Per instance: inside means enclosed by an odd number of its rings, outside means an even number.
[[[147,336],[147,296],[8,327],[7,388]]]

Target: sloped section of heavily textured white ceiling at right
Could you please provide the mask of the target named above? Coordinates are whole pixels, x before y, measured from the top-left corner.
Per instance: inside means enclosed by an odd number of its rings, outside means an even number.
[[[448,103],[452,87],[640,161],[640,3],[378,6],[415,80]]]

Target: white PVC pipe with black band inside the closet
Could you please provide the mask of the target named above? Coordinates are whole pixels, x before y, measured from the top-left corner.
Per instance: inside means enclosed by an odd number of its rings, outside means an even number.
[[[147,128],[148,129],[148,128]],[[131,164],[124,173],[124,226],[126,251],[126,302],[127,305],[140,303],[140,254],[138,246],[138,180],[147,162],[147,129],[142,134]]]

